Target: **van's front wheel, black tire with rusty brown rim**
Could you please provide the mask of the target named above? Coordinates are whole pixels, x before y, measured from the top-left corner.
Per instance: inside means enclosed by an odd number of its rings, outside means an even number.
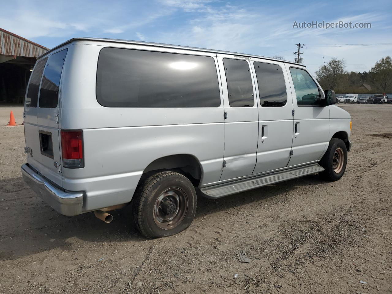
[[[338,153],[338,161],[342,158],[342,161],[337,164],[336,153]],[[320,172],[321,178],[327,181],[339,180],[343,176],[347,165],[347,147],[343,140],[332,138],[319,164],[324,167],[324,171]]]

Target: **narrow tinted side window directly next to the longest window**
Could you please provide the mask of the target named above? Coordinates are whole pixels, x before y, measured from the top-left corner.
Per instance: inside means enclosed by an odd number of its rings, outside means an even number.
[[[223,59],[225,67],[229,104],[231,107],[252,107],[254,105],[252,78],[246,60]]]

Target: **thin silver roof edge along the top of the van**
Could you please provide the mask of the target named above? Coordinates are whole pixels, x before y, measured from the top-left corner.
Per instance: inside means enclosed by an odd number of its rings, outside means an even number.
[[[41,58],[42,56],[51,53],[52,51],[66,45],[72,43],[74,41],[94,41],[94,42],[113,42],[113,43],[122,43],[122,44],[136,44],[136,45],[148,45],[148,46],[156,46],[156,47],[167,47],[167,48],[174,48],[174,49],[185,49],[185,50],[192,50],[192,51],[201,51],[201,52],[209,52],[209,53],[221,53],[221,54],[231,54],[231,55],[238,55],[238,56],[247,56],[247,57],[255,57],[255,58],[264,58],[267,60],[274,60],[279,62],[285,62],[290,64],[295,64],[299,66],[306,67],[303,64],[297,64],[292,61],[287,60],[280,60],[276,58],[260,56],[260,55],[252,55],[252,54],[245,54],[245,53],[238,53],[238,52],[230,52],[230,51],[221,51],[221,50],[213,50],[213,49],[205,49],[205,48],[198,48],[198,47],[189,47],[189,46],[180,46],[180,45],[171,45],[171,44],[163,44],[163,43],[153,43],[153,42],[142,42],[142,41],[132,41],[132,40],[120,40],[120,39],[107,39],[107,38],[72,38],[64,43],[53,47],[49,51],[45,52],[44,54],[38,56],[37,59]]]

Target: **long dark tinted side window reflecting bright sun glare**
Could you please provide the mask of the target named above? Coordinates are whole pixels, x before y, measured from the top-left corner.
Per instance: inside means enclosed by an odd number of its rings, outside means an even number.
[[[218,107],[215,61],[209,56],[103,48],[98,102],[107,107]]]

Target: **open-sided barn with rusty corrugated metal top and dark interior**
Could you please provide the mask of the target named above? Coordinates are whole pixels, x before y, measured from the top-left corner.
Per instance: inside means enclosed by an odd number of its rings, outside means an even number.
[[[0,28],[0,103],[23,103],[36,58],[49,50]]]

